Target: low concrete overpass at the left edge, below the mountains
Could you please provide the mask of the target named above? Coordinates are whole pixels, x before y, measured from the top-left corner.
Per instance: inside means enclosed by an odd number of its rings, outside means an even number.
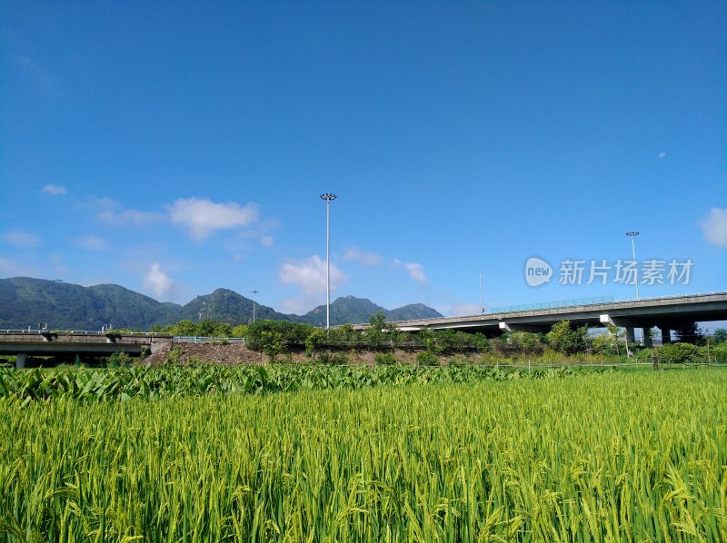
[[[154,352],[170,341],[172,336],[155,333],[5,330],[0,331],[0,354],[17,356],[15,366],[24,368],[28,355],[109,356],[115,352],[125,351],[138,356],[144,348]]]

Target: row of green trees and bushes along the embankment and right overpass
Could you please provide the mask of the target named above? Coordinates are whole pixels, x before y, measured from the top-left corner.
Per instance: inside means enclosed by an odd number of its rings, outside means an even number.
[[[321,356],[330,357],[330,353],[340,350],[373,350],[383,354],[397,349],[422,350],[428,353],[423,358],[429,356],[429,361],[433,360],[432,357],[469,353],[508,358],[553,354],[622,358],[635,354],[644,360],[653,354],[653,350],[640,349],[636,343],[627,344],[622,329],[609,327],[603,333],[593,334],[585,326],[573,328],[570,321],[556,322],[550,331],[544,333],[510,331],[499,338],[487,338],[480,332],[452,330],[400,331],[385,321],[382,312],[373,315],[369,324],[364,331],[355,331],[350,324],[325,331],[293,321],[260,320],[233,327],[225,322],[205,319],[199,322],[179,321],[164,328],[156,327],[153,331],[174,336],[245,338],[250,349],[264,352],[271,360],[286,352],[300,350],[305,350],[314,360]],[[727,361],[727,331],[717,329],[708,339],[697,327],[690,327],[688,331],[677,334],[676,342],[659,347],[658,352],[668,361],[712,358]],[[391,360],[385,356],[380,358]]]

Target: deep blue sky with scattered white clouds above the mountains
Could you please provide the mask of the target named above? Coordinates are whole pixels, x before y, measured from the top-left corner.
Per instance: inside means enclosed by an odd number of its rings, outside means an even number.
[[[664,266],[642,297],[725,290],[725,29],[724,2],[5,2],[0,276],[309,311],[333,192],[332,299],[632,298],[627,231]]]

